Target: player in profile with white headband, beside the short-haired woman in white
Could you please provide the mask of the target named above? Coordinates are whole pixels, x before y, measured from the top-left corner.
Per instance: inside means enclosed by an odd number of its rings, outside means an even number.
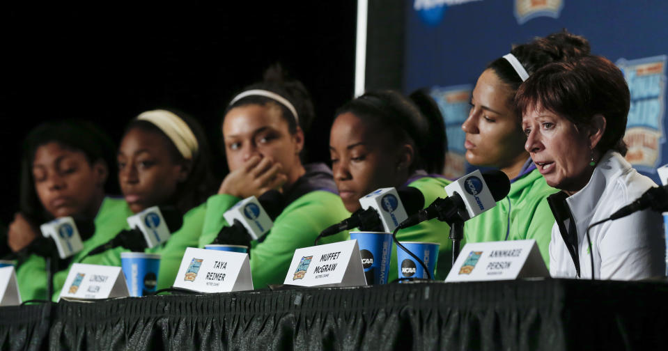
[[[471,110],[462,125],[466,159],[474,166],[501,169],[511,180],[508,196],[465,224],[467,242],[535,239],[546,264],[554,217],[545,198],[549,187],[524,149],[521,115],[513,98],[522,81],[554,61],[589,54],[589,42],[567,31],[513,47],[478,78]]]

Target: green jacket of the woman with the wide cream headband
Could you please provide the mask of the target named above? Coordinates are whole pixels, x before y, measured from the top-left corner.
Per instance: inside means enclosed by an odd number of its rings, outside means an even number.
[[[157,276],[158,290],[169,288],[173,285],[185,249],[187,247],[197,247],[205,213],[205,203],[190,209],[183,216],[183,225],[181,228],[172,233],[169,240],[156,247],[144,250],[146,253],[157,253],[160,255],[160,270]],[[125,228],[130,228],[127,226],[127,221]],[[100,253],[102,260],[98,264],[121,267],[121,252],[130,252],[130,250],[116,247],[115,249]]]

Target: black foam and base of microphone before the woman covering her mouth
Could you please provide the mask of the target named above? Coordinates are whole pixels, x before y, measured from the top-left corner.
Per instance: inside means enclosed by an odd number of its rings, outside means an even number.
[[[276,217],[279,217],[279,214],[283,212],[284,208],[283,194],[278,190],[272,189],[260,197],[258,197],[258,202],[261,205],[261,208],[258,208],[258,211],[266,212],[269,218],[274,221]],[[251,224],[248,224],[251,226]],[[269,228],[265,228],[267,231]],[[261,238],[263,233],[254,233],[258,238]],[[216,238],[211,242],[211,244],[229,244],[229,245],[244,245],[249,246],[250,242],[254,240],[253,235],[249,233],[248,229],[242,221],[239,219],[234,219],[231,226],[226,226],[221,229]]]

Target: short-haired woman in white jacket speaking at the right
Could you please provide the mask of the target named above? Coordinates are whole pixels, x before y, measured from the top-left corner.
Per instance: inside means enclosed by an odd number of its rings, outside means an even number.
[[[643,210],[587,228],[642,196],[655,183],[626,162],[630,94],[614,63],[583,56],[550,63],[515,96],[526,150],[548,185],[556,222],[554,277],[636,280],[665,275],[662,217]],[[592,263],[593,260],[593,272]]]

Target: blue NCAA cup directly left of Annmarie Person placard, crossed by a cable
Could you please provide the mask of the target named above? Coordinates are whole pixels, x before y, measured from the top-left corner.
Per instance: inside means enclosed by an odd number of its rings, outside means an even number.
[[[436,242],[401,242],[401,244],[424,262],[433,279],[440,244]],[[401,247],[396,248],[396,258],[399,278],[428,278],[422,265]]]

